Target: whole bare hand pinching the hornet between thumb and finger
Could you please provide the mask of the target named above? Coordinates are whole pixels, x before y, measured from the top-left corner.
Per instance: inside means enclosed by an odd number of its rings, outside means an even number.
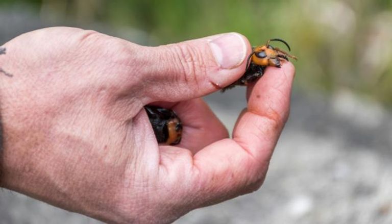
[[[236,33],[146,47],[62,27],[3,47],[2,187],[110,223],[169,223],[257,190],[288,117],[289,62],[248,87],[232,139],[200,98],[245,70]],[[147,104],[177,112],[181,144],[157,144]]]

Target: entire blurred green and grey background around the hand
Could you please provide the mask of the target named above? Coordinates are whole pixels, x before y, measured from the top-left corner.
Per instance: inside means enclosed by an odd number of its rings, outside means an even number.
[[[279,37],[299,58],[263,187],[176,223],[392,223],[392,0],[0,0],[0,45],[50,26],[143,45]],[[205,99],[229,130],[246,107],[241,87]],[[3,190],[0,223],[99,222]]]

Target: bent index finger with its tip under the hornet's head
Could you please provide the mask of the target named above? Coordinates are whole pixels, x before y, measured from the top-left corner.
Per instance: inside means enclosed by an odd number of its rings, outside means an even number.
[[[289,62],[268,67],[250,91],[233,139],[215,142],[194,155],[202,195],[215,195],[218,202],[261,185],[288,117],[294,74]]]

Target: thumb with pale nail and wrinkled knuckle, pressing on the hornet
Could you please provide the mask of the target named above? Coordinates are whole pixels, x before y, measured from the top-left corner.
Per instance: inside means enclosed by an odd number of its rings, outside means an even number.
[[[151,102],[178,102],[223,88],[243,74],[251,52],[238,33],[145,47],[143,82]]]

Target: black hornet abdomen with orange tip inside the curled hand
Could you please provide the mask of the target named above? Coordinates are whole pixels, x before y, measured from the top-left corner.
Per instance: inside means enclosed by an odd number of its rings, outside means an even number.
[[[158,143],[180,143],[182,123],[173,110],[156,106],[144,106],[144,109],[149,116]]]

